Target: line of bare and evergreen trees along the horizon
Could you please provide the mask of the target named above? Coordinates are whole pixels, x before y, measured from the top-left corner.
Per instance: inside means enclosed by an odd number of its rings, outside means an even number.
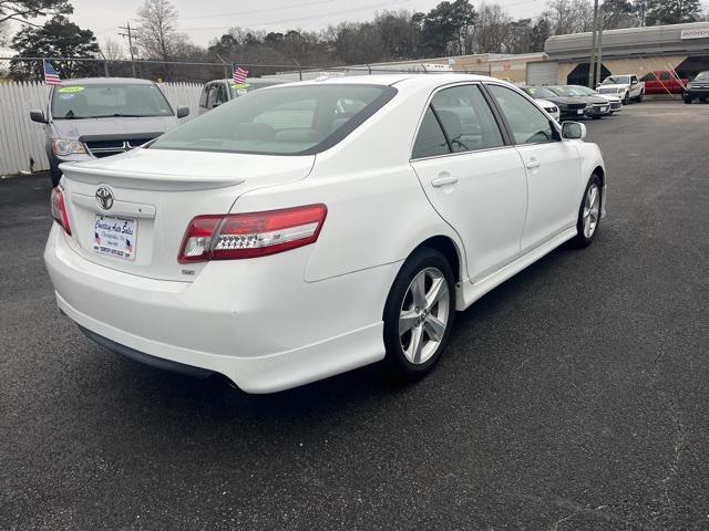
[[[0,0],[2,27],[14,20],[21,29],[9,40],[24,56],[85,56],[125,60],[129,52],[115,40],[100,44],[91,30],[71,22],[69,0]],[[701,0],[605,0],[605,29],[674,24],[707,20]],[[38,24],[38,18],[47,18]],[[590,31],[593,0],[548,0],[534,18],[515,19],[497,3],[475,8],[470,0],[442,1],[429,12],[381,11],[367,22],[343,21],[320,31],[261,31],[234,27],[208,46],[195,45],[178,29],[178,12],[169,0],[144,0],[136,12],[134,55],[157,61],[239,62],[332,66],[471,53],[528,53],[544,50],[554,34]],[[96,63],[62,62],[65,76],[101,74]],[[122,65],[122,72],[125,69]],[[115,67],[114,67],[115,70]],[[268,69],[253,73],[269,73]],[[41,77],[41,65],[13,61],[11,75]],[[155,66],[142,75],[203,81],[214,69]],[[115,74],[114,74],[115,75]]]

